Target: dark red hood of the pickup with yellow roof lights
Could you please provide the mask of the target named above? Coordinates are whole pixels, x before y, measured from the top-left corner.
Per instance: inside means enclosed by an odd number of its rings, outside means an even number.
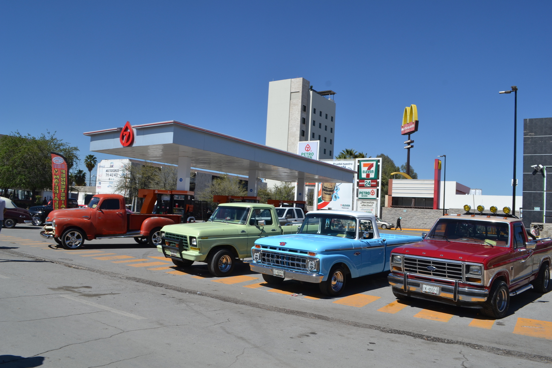
[[[394,253],[473,263],[495,263],[510,253],[510,248],[483,244],[427,239],[393,249]]]

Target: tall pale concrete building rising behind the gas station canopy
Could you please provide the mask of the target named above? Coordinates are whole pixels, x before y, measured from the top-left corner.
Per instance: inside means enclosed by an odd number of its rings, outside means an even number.
[[[310,87],[305,78],[268,83],[266,145],[297,153],[298,142],[319,140],[319,159],[330,159],[335,156],[336,93]]]

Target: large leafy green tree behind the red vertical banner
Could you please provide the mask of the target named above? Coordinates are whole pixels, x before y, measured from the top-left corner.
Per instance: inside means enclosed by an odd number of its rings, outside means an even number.
[[[78,148],[68,145],[55,132],[38,137],[19,132],[0,138],[0,186],[28,189],[36,192],[52,188],[51,152],[67,159],[68,169],[78,162]]]

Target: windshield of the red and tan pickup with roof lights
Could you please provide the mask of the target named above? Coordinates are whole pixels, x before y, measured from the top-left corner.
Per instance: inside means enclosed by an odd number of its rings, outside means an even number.
[[[440,218],[427,238],[508,247],[508,223]]]

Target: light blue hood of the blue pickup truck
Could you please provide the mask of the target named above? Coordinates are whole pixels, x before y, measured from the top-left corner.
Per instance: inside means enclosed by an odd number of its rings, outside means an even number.
[[[285,243],[282,246],[285,248],[307,250],[309,252],[324,252],[328,249],[352,248],[355,240],[319,234],[290,234],[259,238],[255,241],[255,244],[280,247],[280,243],[282,242]]]

